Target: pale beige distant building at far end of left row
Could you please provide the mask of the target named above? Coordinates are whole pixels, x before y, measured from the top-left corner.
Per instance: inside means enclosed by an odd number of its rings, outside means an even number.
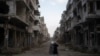
[[[50,38],[47,26],[46,26],[46,24],[44,22],[44,17],[40,17],[40,36],[41,36],[41,38],[39,38],[40,39],[39,40],[40,43],[46,42]]]

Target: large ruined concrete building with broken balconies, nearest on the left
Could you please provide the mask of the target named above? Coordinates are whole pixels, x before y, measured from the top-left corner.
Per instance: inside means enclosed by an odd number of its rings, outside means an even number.
[[[38,0],[0,0],[0,53],[34,47],[40,32]]]

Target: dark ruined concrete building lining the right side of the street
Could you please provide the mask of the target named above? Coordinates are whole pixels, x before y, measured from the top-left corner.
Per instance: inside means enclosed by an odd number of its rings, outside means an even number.
[[[69,0],[60,22],[61,36],[75,48],[100,52],[99,22],[99,0]]]

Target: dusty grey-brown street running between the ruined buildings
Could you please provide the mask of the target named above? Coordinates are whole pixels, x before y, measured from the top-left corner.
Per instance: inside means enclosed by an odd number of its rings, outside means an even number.
[[[17,54],[17,55],[13,55],[13,56],[50,56],[48,51],[49,51],[49,42],[45,43],[40,48],[33,48],[22,54]],[[100,56],[100,55],[84,54],[84,53],[75,52],[75,51],[68,50],[68,49],[64,50],[64,47],[59,46],[59,56]]]

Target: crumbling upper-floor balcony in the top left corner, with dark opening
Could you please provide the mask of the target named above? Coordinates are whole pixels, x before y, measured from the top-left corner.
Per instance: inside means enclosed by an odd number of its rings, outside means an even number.
[[[26,23],[25,5],[22,2],[15,1],[0,1],[0,21],[5,19],[17,19]]]

